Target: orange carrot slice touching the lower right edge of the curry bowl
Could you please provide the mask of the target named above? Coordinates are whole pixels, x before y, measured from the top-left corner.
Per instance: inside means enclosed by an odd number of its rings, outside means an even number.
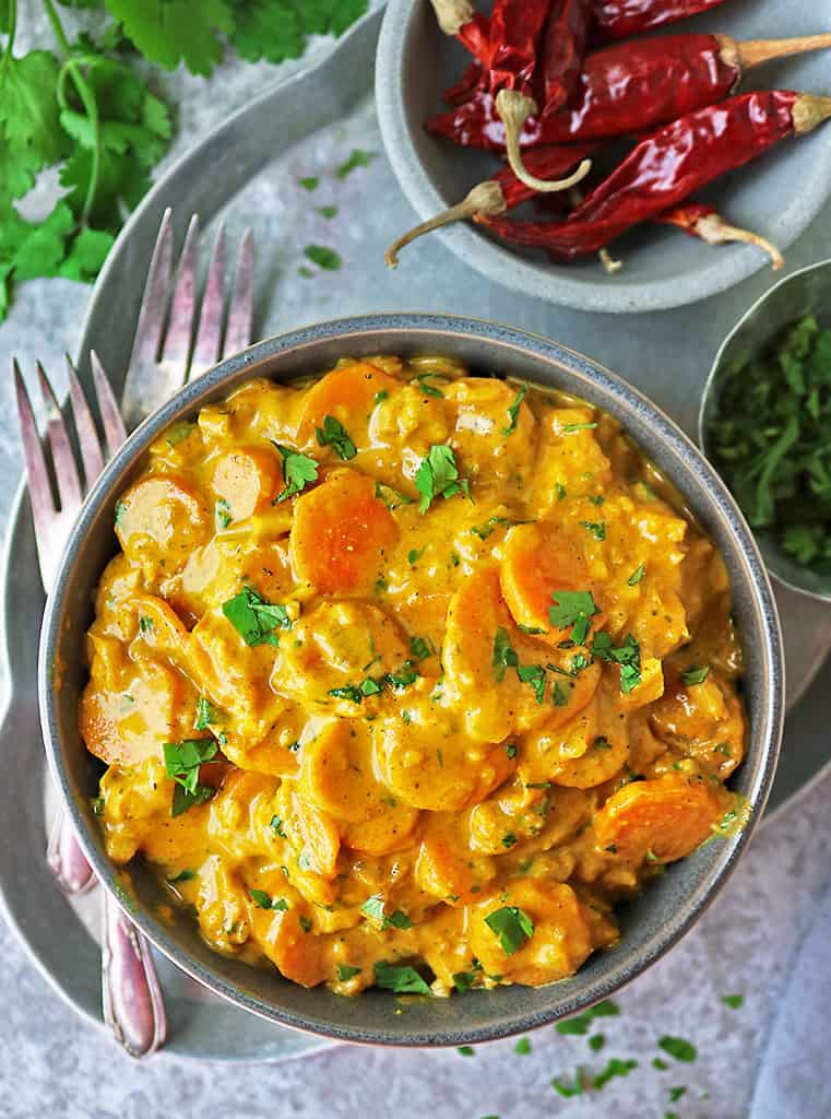
[[[597,846],[630,863],[672,863],[695,850],[721,818],[720,801],[700,778],[636,781],[608,798],[595,818]]]

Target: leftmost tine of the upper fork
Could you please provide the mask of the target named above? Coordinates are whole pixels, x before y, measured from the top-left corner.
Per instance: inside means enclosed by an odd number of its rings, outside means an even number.
[[[147,382],[155,372],[155,359],[170,295],[170,271],[173,257],[173,211],[168,208],[159,226],[150,271],[135,328],[135,341],[124,379],[122,414],[129,425],[138,425],[147,414]]]

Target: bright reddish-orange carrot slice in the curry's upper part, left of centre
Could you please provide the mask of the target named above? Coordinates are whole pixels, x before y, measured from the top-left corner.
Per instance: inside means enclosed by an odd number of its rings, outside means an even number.
[[[367,590],[376,580],[384,549],[398,528],[371,478],[336,470],[303,493],[294,510],[290,547],[301,580],[323,594]]]

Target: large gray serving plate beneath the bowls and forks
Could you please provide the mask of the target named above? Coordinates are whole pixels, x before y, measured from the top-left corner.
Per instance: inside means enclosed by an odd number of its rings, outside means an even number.
[[[180,239],[196,209],[207,226],[206,245],[213,237],[211,224],[219,217],[227,220],[232,234],[253,226],[261,337],[333,314],[371,310],[421,308],[485,316],[592,354],[695,435],[701,388],[716,351],[736,320],[771,285],[773,275],[759,274],[729,298],[693,309],[611,318],[576,314],[513,295],[465,269],[441,241],[414,245],[407,267],[390,274],[384,250],[416,216],[402,197],[389,163],[376,154],[369,167],[347,179],[331,175],[352,148],[381,151],[369,96],[379,25],[380,13],[370,13],[323,63],[266,91],[193,148],[148,195],[93,292],[77,349],[82,376],[88,376],[86,354],[95,346],[116,387],[120,384],[158,224],[163,209],[173,206]],[[310,196],[302,190],[299,176],[320,176],[319,191]],[[320,203],[337,203],[338,217],[322,219],[314,209]],[[816,246],[829,241],[831,210],[793,247],[788,263],[810,263]],[[337,246],[343,271],[301,282],[296,269],[309,242]],[[48,775],[35,692],[37,628],[32,620],[43,612],[44,595],[22,487],[8,521],[1,583],[9,706],[0,727],[6,761],[0,782],[0,910],[55,990],[100,1024],[95,895],[79,912],[56,888],[43,856],[37,857],[45,850],[55,798],[45,796]],[[766,819],[819,781],[831,758],[831,664],[821,669],[831,642],[831,611],[778,589],[776,598],[785,631],[791,714]],[[246,1014],[183,977],[162,957],[158,961],[171,1014],[166,1052],[195,1059],[271,1061],[329,1044]]]

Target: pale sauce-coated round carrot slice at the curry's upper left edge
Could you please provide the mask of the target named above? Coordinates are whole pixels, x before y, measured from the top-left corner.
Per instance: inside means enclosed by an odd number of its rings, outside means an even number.
[[[119,501],[115,535],[129,555],[151,561],[163,557],[178,567],[208,536],[208,510],[180,478],[150,474]]]

